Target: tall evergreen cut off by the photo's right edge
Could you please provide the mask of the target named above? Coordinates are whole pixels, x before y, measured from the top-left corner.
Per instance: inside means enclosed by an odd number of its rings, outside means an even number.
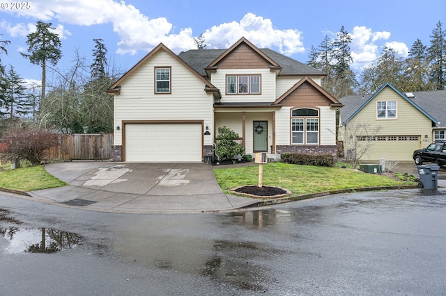
[[[431,82],[436,90],[446,87],[446,31],[438,22],[431,35],[431,46],[428,49],[431,61]]]

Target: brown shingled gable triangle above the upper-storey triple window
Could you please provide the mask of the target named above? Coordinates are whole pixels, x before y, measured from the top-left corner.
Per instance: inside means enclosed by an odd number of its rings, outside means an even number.
[[[268,69],[270,64],[245,43],[217,64],[218,69]]]

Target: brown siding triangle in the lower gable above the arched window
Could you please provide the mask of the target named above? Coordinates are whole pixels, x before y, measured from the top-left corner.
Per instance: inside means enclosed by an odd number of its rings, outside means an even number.
[[[305,82],[295,89],[280,104],[292,107],[330,106],[332,102],[311,84]]]

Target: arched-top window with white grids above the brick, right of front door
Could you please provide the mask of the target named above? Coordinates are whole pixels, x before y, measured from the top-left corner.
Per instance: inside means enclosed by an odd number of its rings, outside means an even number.
[[[291,144],[318,144],[319,119],[314,118],[318,116],[316,109],[291,110]]]

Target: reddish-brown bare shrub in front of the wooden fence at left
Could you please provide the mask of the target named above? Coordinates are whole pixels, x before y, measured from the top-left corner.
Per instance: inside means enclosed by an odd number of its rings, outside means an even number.
[[[45,150],[58,145],[51,131],[33,127],[10,131],[3,139],[8,143],[6,152],[10,157],[26,159],[31,165],[40,165]]]

